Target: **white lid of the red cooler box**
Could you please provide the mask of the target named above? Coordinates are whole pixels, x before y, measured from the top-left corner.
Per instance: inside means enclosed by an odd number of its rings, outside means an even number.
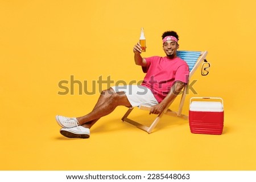
[[[220,101],[192,101],[190,111],[222,112],[223,105]]]

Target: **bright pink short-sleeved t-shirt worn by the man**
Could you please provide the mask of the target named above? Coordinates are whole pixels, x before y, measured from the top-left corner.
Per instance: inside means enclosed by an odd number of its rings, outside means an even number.
[[[152,91],[158,103],[167,96],[176,81],[188,83],[188,64],[181,58],[153,56],[145,59],[147,65],[142,70],[146,75],[141,85]]]

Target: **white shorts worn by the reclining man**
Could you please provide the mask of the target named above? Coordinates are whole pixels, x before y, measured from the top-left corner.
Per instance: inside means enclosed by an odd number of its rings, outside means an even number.
[[[139,105],[156,105],[158,101],[155,99],[154,94],[147,87],[141,85],[125,85],[125,86],[113,86],[114,92],[125,92],[127,99],[129,100],[132,107]]]

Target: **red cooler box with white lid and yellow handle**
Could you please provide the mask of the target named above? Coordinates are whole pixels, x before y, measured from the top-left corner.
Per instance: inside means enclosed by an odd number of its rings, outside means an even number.
[[[191,133],[222,134],[224,106],[221,98],[191,98],[189,127]]]

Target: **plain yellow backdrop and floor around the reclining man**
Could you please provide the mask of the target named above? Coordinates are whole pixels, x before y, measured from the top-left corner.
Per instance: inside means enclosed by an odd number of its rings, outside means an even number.
[[[0,170],[256,170],[255,7],[253,0],[1,0]],[[183,111],[192,96],[223,98],[221,136],[192,134],[188,121],[171,116],[147,134],[121,122],[125,107],[98,121],[89,139],[61,136],[55,115],[84,115],[99,93],[58,95],[58,83],[71,75],[88,84],[101,75],[143,79],[133,60],[141,27],[144,57],[164,56],[167,30],[179,34],[180,50],[208,50],[210,73],[193,75],[197,94],[189,92]]]

